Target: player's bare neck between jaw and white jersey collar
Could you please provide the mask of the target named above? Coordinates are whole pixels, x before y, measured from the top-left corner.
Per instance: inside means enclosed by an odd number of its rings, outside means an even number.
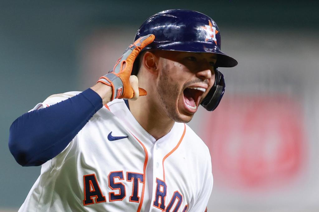
[[[147,97],[139,97],[136,101],[129,100],[130,111],[137,122],[156,140],[165,136],[173,127],[171,120],[147,101]]]

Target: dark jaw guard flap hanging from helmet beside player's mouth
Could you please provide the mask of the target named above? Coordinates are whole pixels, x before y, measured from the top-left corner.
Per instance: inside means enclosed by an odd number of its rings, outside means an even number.
[[[217,108],[226,88],[224,75],[218,71],[217,67],[214,68],[214,72],[214,85],[211,87],[208,94],[201,103],[201,105],[208,111],[213,111]]]

